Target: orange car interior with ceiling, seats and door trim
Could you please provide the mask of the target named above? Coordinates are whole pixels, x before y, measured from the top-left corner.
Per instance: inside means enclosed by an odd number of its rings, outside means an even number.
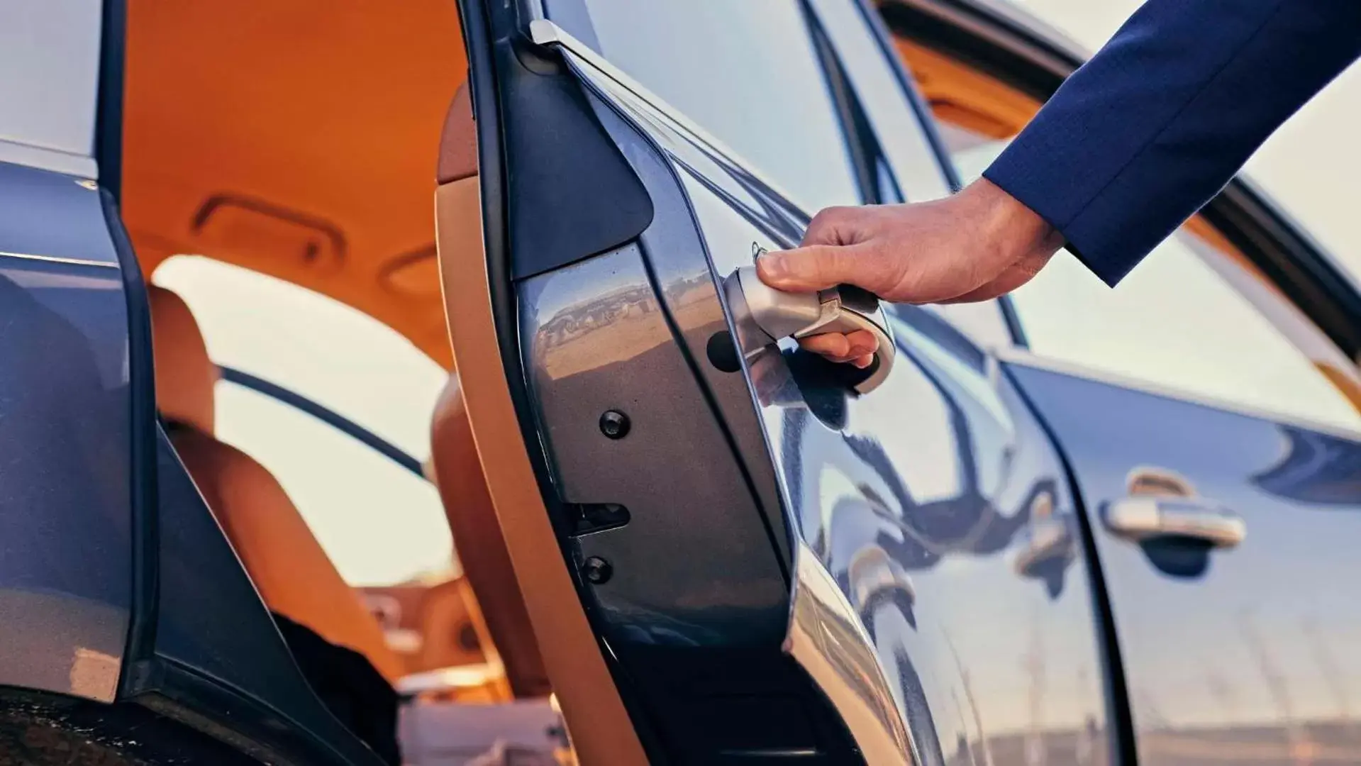
[[[278,482],[214,438],[216,370],[184,302],[152,288],[162,414],[272,610],[362,652],[389,679],[449,660],[504,669],[505,694],[471,701],[543,697],[551,678],[584,762],[645,763],[539,498],[490,313],[479,314],[476,137],[467,98],[453,98],[465,79],[450,0],[131,4],[121,210],[144,273],[195,253],[280,278],[387,324],[450,370],[430,472],[465,573],[442,597],[460,605],[429,607],[436,589],[365,590],[421,603],[425,616],[411,619],[427,634],[470,644],[471,625],[478,650],[412,654],[384,642],[378,616]],[[448,181],[438,252],[437,167]]]

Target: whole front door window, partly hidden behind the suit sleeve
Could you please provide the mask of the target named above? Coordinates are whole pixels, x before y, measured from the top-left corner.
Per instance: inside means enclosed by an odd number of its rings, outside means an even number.
[[[1022,106],[995,82],[966,88],[969,78],[981,79],[976,72],[955,75],[928,72],[924,90],[942,141],[969,182],[1006,147],[1014,132],[1007,120],[1017,120]],[[960,83],[961,93],[949,93],[950,83]],[[1199,218],[1115,290],[1064,250],[1010,299],[1028,346],[1041,356],[1361,429],[1356,365]]]

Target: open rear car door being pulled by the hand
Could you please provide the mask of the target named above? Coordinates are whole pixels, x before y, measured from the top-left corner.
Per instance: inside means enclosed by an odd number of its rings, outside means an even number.
[[[802,7],[819,34],[860,19],[823,5]],[[1101,668],[1062,463],[988,356],[921,309],[766,290],[753,260],[804,211],[569,19],[460,7],[470,83],[436,196],[450,336],[581,762],[943,763],[936,729],[972,735],[932,705],[960,680],[977,721],[964,665],[998,654],[957,649],[951,620]],[[868,370],[783,339],[836,322],[879,333]],[[951,556],[968,578],[928,571]],[[1090,751],[1101,673],[1078,687],[1090,731],[1062,747]]]

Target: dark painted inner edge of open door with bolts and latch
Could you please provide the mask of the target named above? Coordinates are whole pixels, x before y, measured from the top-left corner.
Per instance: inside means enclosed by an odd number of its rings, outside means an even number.
[[[701,362],[727,324],[683,192],[652,141],[596,106],[652,196],[653,222],[634,244],[516,286],[523,363],[559,499],[580,509],[577,522],[604,503],[627,513],[626,524],[570,536],[577,566],[610,566],[608,580],[584,589],[585,603],[632,682],[634,716],[663,743],[657,758],[851,758],[836,718],[780,650],[789,537],[769,464],[753,475],[749,467],[762,465],[735,448],[762,449],[742,377]],[[689,257],[648,257],[656,250]],[[746,420],[729,429],[715,408]],[[627,434],[602,433],[606,411],[629,419]]]

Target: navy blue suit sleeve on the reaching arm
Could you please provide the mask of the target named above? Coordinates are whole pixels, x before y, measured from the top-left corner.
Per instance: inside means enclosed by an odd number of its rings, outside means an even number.
[[[1149,0],[983,176],[1113,286],[1358,53],[1358,0]]]

